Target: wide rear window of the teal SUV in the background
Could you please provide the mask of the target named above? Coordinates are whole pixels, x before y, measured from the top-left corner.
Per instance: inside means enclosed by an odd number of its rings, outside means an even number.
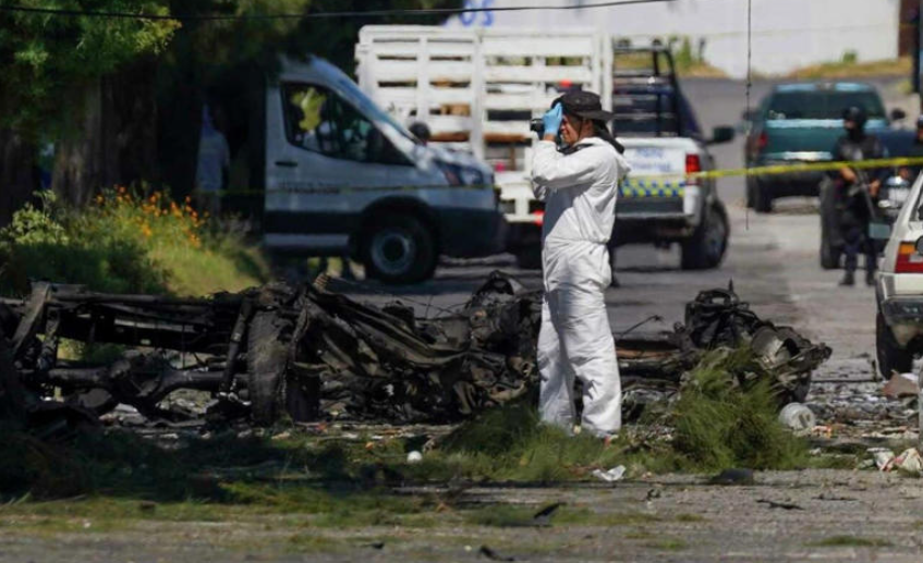
[[[870,120],[885,119],[885,108],[874,91],[803,90],[778,91],[769,101],[769,120],[839,120],[845,109],[865,109]]]

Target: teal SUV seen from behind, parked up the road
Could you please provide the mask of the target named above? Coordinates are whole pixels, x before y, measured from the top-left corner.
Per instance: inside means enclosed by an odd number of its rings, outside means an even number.
[[[842,111],[865,109],[866,130],[889,127],[885,106],[874,86],[853,82],[780,84],[763,99],[753,115],[744,159],[749,167],[829,161],[842,135]],[[902,119],[895,110],[892,119]],[[746,184],[746,205],[756,211],[773,210],[773,200],[787,196],[816,196],[823,172],[753,176]]]

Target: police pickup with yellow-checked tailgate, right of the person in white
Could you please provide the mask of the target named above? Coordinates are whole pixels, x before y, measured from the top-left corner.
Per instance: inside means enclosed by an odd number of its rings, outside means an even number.
[[[668,49],[616,49],[614,59],[612,128],[632,171],[620,188],[611,244],[679,243],[683,269],[715,268],[727,249],[727,211],[715,180],[688,174],[713,170],[708,145],[731,140],[734,131],[703,136]]]

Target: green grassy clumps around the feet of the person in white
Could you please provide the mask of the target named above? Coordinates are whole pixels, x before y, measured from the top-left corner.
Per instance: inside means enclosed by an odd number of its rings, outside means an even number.
[[[548,482],[584,479],[594,468],[616,465],[630,474],[806,467],[809,444],[778,421],[777,394],[765,382],[770,378],[754,377],[765,376],[761,369],[748,351],[706,356],[666,418],[653,420],[675,428],[671,441],[627,429],[607,448],[592,436],[541,425],[532,401],[524,400],[463,424],[410,472],[421,479]]]

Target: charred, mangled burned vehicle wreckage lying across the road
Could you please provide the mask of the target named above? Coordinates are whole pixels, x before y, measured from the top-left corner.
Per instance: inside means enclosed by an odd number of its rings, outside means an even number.
[[[323,281],[202,299],[36,283],[25,299],[0,301],[0,409],[39,424],[52,412],[93,419],[124,404],[169,425],[189,415],[165,399],[195,389],[211,393],[206,418],[262,426],[282,416],[456,421],[537,387],[541,299],[500,272],[457,311],[428,319],[400,302],[357,303]],[[616,335],[627,409],[676,393],[718,346],[752,346],[784,400],[803,399],[830,354],[761,320],[732,290],[703,292],[685,313],[672,331]],[[62,359],[64,339],[118,354]]]

